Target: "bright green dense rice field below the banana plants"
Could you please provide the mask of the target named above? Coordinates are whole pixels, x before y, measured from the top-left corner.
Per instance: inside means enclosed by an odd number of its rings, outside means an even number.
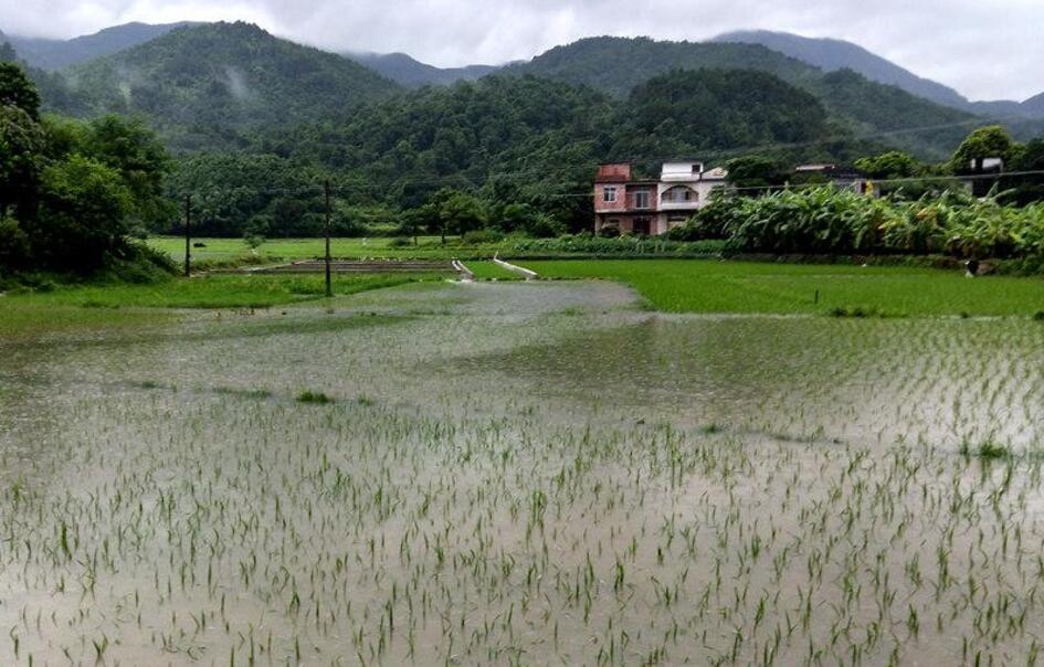
[[[523,262],[541,277],[609,278],[667,313],[1030,317],[1044,280],[930,268],[703,260]]]

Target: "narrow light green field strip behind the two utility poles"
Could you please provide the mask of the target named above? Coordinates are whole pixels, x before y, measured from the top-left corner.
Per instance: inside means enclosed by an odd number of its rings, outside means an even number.
[[[193,239],[205,247],[193,247],[192,258],[200,264],[234,263],[236,261],[310,260],[325,254],[323,239],[274,239],[252,250],[242,239]],[[439,236],[421,236],[418,245],[394,246],[394,239],[331,239],[330,255],[337,258],[420,258],[443,260],[461,253],[458,240],[450,237],[442,244]],[[184,260],[184,239],[179,236],[152,236],[148,245],[170,255],[176,262]],[[467,248],[470,256],[492,256],[495,250]]]

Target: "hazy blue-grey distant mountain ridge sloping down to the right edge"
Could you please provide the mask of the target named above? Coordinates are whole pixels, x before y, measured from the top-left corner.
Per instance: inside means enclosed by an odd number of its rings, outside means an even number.
[[[1044,118],[1044,100],[1026,104],[1009,99],[970,102],[949,86],[924,78],[858,44],[843,40],[805,38],[787,32],[751,30],[729,32],[711,40],[716,43],[759,44],[808,63],[824,72],[852,70],[866,78],[897,86],[956,109],[993,118]]]

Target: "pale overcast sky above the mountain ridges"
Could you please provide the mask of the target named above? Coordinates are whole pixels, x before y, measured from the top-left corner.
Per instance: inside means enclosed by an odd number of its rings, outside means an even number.
[[[219,19],[440,66],[529,59],[599,34],[702,40],[758,28],[856,42],[972,99],[1044,91],[1044,0],[0,0],[0,30],[34,36]]]

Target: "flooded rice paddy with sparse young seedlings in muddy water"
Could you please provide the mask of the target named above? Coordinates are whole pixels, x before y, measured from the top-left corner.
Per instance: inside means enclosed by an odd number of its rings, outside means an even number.
[[[1033,665],[1044,642],[1037,322],[429,285],[0,343],[0,426],[2,665]]]

